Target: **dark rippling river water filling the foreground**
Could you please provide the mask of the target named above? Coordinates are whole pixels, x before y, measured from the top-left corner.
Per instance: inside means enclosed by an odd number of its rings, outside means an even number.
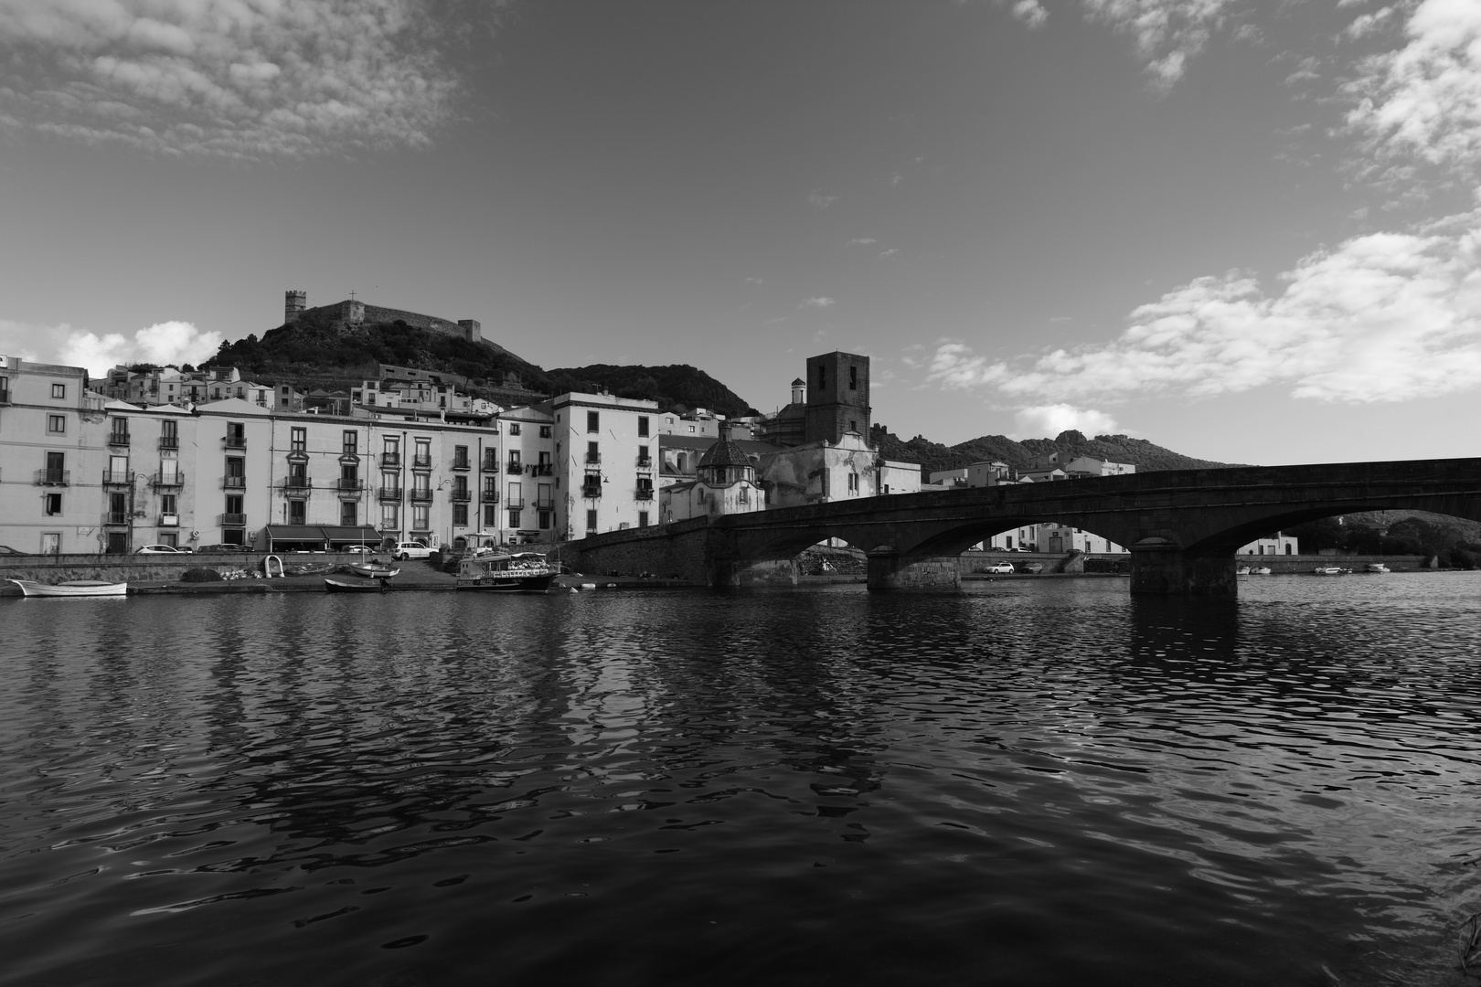
[[[4,984],[1453,984],[1481,576],[0,601]]]

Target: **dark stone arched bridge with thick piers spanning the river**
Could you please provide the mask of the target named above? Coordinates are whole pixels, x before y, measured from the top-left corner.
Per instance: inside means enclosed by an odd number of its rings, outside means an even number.
[[[1481,521],[1481,459],[1183,469],[834,500],[612,531],[572,548],[597,571],[702,571],[712,586],[743,586],[795,583],[801,550],[834,537],[868,553],[869,589],[940,589],[960,585],[957,556],[969,546],[1057,522],[1129,548],[1133,593],[1234,595],[1241,545],[1385,509]]]

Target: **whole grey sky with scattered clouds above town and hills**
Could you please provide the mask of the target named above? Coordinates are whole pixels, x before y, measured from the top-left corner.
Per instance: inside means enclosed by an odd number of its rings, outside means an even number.
[[[0,0],[0,352],[283,293],[902,438],[1481,456],[1477,0]]]

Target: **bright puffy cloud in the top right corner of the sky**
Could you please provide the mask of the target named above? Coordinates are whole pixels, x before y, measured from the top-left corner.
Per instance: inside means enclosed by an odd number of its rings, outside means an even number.
[[[1481,4],[1423,0],[1404,37],[1401,49],[1360,62],[1343,90],[1352,104],[1348,129],[1370,155],[1438,166],[1474,183],[1481,167]]]

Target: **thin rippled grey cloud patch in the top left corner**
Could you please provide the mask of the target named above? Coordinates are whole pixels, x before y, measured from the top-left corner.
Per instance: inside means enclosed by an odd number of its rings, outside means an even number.
[[[453,115],[452,49],[474,34],[462,6],[0,0],[0,126],[218,158],[427,146]]]

